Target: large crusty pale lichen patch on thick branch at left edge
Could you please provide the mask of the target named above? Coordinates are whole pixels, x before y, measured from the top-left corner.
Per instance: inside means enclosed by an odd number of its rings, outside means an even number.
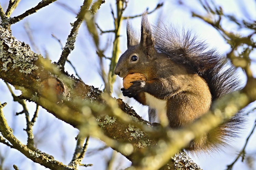
[[[31,74],[38,66],[33,61],[38,60],[38,54],[29,49],[27,45],[14,38],[11,33],[0,26],[0,60],[3,62],[2,71],[19,68],[19,72]]]

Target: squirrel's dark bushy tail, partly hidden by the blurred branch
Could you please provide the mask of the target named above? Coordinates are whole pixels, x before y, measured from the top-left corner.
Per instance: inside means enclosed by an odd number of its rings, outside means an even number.
[[[159,53],[166,54],[174,62],[183,64],[204,78],[212,94],[212,103],[241,88],[237,71],[227,58],[215,49],[208,48],[204,41],[191,35],[190,31],[183,30],[180,34],[176,29],[162,25],[153,27],[153,35]],[[240,111],[204,136],[207,143],[203,147],[198,146],[198,149],[215,150],[219,145],[228,145],[229,140],[239,134],[243,122],[243,112]]]

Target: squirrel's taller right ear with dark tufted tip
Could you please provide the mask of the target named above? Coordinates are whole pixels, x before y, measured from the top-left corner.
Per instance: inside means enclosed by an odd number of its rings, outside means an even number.
[[[150,28],[150,24],[148,22],[147,13],[145,12],[142,15],[142,27],[141,27],[141,37],[140,37],[140,45],[145,50],[148,55],[153,49],[155,45],[155,40],[152,35],[152,31]]]

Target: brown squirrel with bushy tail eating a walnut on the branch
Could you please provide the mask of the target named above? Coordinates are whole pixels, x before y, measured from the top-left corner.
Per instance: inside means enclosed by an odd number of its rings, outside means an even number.
[[[209,111],[214,101],[240,87],[228,60],[190,31],[183,30],[180,35],[172,27],[151,26],[144,13],[140,41],[129,21],[126,33],[127,50],[114,73],[121,78],[133,73],[145,75],[146,81],[133,81],[128,89],[121,90],[123,96],[148,106],[151,123],[173,129],[186,126]],[[237,136],[243,122],[238,112],[185,149],[208,152],[227,146],[227,137]]]

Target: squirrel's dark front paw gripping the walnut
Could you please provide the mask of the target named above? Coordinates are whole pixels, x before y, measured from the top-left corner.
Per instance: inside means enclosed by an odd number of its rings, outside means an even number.
[[[128,89],[121,89],[123,91],[123,95],[129,98],[135,97],[139,92],[143,90],[146,85],[146,82],[141,80],[136,80],[131,83],[133,84]]]

